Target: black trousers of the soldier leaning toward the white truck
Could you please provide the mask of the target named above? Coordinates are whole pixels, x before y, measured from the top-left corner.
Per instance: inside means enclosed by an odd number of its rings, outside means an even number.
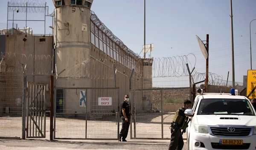
[[[169,150],[182,150],[184,142],[181,135],[181,130],[177,127],[171,128],[171,142]]]

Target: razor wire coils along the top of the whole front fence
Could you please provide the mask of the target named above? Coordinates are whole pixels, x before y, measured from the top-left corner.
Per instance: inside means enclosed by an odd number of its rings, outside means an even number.
[[[193,54],[189,54],[195,57]],[[188,56],[162,57],[154,58],[152,64],[152,74],[143,74],[143,60],[137,62],[136,70],[132,76],[133,79],[155,78],[155,77],[180,77],[188,76],[186,63],[189,63]],[[113,68],[113,62],[116,68]],[[0,53],[0,72],[23,72],[26,65],[25,74],[51,74],[52,57],[50,55],[32,55],[18,54],[12,52]],[[195,64],[190,64],[194,67]],[[113,59],[86,59],[81,63],[73,65],[66,71],[66,78],[90,78],[90,79],[114,79],[114,69],[117,74],[127,77],[131,75],[131,68],[127,68]],[[193,81],[199,82],[206,78],[205,73],[193,71]],[[222,76],[209,72],[209,85],[226,85]],[[204,84],[201,83],[201,84]],[[230,85],[230,84],[228,84]],[[236,82],[236,85],[241,85]]]

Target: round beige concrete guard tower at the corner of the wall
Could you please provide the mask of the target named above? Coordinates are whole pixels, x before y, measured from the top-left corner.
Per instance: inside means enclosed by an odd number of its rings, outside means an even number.
[[[90,7],[93,0],[52,0],[55,5],[53,39],[55,70],[58,79],[55,87],[79,88],[91,87],[90,65],[83,64],[90,59]],[[64,93],[69,93],[65,95]],[[58,89],[56,91],[56,111],[58,113],[72,110],[69,113],[90,112],[79,107],[79,93]],[[68,101],[67,101],[68,99]],[[81,103],[81,102],[80,102]],[[73,112],[74,110],[74,112]],[[76,111],[76,112],[75,112]]]

